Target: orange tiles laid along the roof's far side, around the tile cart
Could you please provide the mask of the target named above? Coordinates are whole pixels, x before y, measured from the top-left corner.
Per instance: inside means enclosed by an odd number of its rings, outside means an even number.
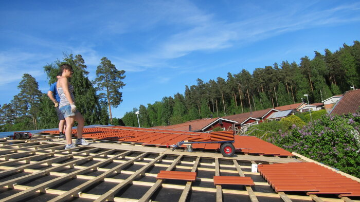
[[[59,131],[45,131],[43,133],[59,134]],[[73,134],[76,134],[76,129]],[[219,132],[213,132],[214,134]],[[233,133],[233,131],[224,131],[224,134]],[[193,138],[210,139],[209,133],[159,130],[155,128],[139,128],[128,126],[109,126],[84,128],[83,137],[89,139],[113,140],[121,142],[141,143],[142,145],[169,146],[178,142]],[[212,140],[213,141],[213,140]],[[219,139],[217,139],[219,141]],[[233,143],[236,149],[248,154],[264,154],[276,156],[294,156],[274,144],[265,142],[253,136],[235,135]],[[186,145],[182,145],[186,146]],[[193,149],[218,150],[219,143],[195,143]]]

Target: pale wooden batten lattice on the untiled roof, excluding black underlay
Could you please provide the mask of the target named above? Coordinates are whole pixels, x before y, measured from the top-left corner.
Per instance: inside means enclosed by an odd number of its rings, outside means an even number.
[[[250,198],[252,202],[258,202],[258,197],[266,197],[269,201],[272,198],[281,198],[285,202],[290,202],[292,199],[299,200],[307,200],[312,201],[315,200],[317,202],[329,201],[329,202],[360,202],[359,200],[353,200],[348,197],[343,198],[323,198],[317,195],[303,196],[303,195],[290,195],[285,193],[265,193],[256,191],[257,186],[266,186],[269,187],[267,182],[260,182],[254,180],[255,182],[255,191],[250,186],[246,186],[245,190],[242,189],[223,189],[223,187],[218,188],[214,186],[213,188],[203,187],[193,185],[193,182],[187,182],[186,185],[176,185],[172,184],[171,181],[167,180],[156,180],[155,182],[147,182],[138,179],[140,175],[145,175],[151,178],[156,177],[156,174],[151,172],[153,168],[160,168],[160,170],[177,170],[183,169],[189,172],[197,172],[197,173],[208,173],[212,172],[214,175],[222,176],[224,173],[228,173],[232,176],[260,176],[259,173],[251,173],[249,169],[251,168],[251,160],[239,160],[236,158],[223,158],[222,156],[214,157],[213,154],[208,155],[200,155],[201,153],[188,153],[188,152],[169,152],[169,149],[165,150],[152,150],[151,152],[146,151],[130,151],[120,149],[121,145],[119,144],[111,144],[111,143],[94,143],[92,147],[87,146],[79,146],[78,148],[72,150],[59,150],[60,146],[63,147],[63,142],[37,142],[37,144],[33,145],[31,149],[32,143],[18,143],[22,144],[20,147],[12,144],[12,146],[8,146],[9,144],[1,144],[0,149],[2,154],[8,155],[8,160],[3,158],[3,155],[0,156],[0,176],[12,176],[18,172],[25,172],[26,174],[21,177],[16,177],[8,179],[7,181],[0,182],[0,187],[6,187],[8,189],[16,189],[20,192],[13,195],[8,195],[7,197],[2,197],[0,195],[0,201],[17,201],[21,198],[26,197],[38,197],[37,193],[44,193],[55,195],[52,198],[47,199],[47,201],[64,201],[68,200],[71,197],[79,197],[92,199],[94,201],[103,201],[102,199],[105,196],[107,199],[111,199],[113,201],[163,201],[161,199],[156,200],[157,190],[160,188],[166,188],[170,190],[178,190],[181,194],[179,197],[171,198],[168,201],[193,201],[191,200],[191,190],[192,192],[201,192],[201,193],[212,193],[216,194],[216,199],[218,201],[222,201],[227,194],[235,194],[238,196],[247,196]],[[36,150],[35,146],[40,144],[46,144],[48,147]],[[59,145],[61,144],[61,145]],[[97,147],[98,145],[106,144],[107,148]],[[5,146],[5,147],[4,147]],[[136,148],[146,149],[144,146],[133,146]],[[13,150],[16,148],[16,150]],[[27,148],[27,149],[23,149]],[[30,156],[22,156],[25,155],[28,150],[35,151]],[[127,148],[128,149],[128,148]],[[160,148],[152,148],[152,149],[160,149]],[[8,152],[6,152],[8,151]],[[211,157],[212,156],[212,157]],[[240,155],[239,155],[240,156]],[[241,155],[242,156],[242,155]],[[245,156],[245,155],[243,155]],[[248,157],[260,157],[260,156],[251,156]],[[38,160],[39,157],[43,157],[44,159]],[[171,158],[170,158],[171,157]],[[279,159],[276,157],[267,157],[273,159]],[[66,160],[67,161],[64,161]],[[282,159],[282,158],[280,158]],[[292,158],[283,158],[288,160],[287,162],[292,162]],[[204,161],[205,160],[205,161]],[[94,162],[83,164],[84,162]],[[257,160],[256,160],[257,161]],[[14,162],[23,163],[20,166],[15,165]],[[260,162],[260,161],[257,161]],[[267,161],[268,162],[268,161]],[[109,169],[104,167],[104,165],[109,163],[116,163],[114,167],[110,167]],[[166,163],[166,164],[164,164]],[[245,163],[245,164],[240,164]],[[253,162],[254,163],[254,162]],[[140,168],[136,169],[136,171],[128,170],[127,168],[131,165],[140,166]],[[44,169],[37,169],[34,166],[46,166]],[[61,172],[62,169],[75,169],[70,173]],[[9,169],[13,169],[12,173],[6,172]],[[149,170],[150,169],[150,170]],[[17,170],[15,172],[15,170]],[[101,172],[101,174],[93,176],[87,175],[87,171],[97,170],[97,172]],[[245,171],[243,171],[245,170]],[[1,174],[2,172],[3,175]],[[118,175],[126,174],[127,178],[113,178],[112,174],[117,173]],[[39,182],[38,185],[28,186],[27,183],[23,183],[23,181],[27,181],[30,179],[37,178],[39,176],[50,175],[55,177],[52,180],[47,180],[45,182]],[[60,183],[65,182],[70,179],[83,179],[87,180],[81,183],[78,186],[70,187],[69,189],[56,189],[56,186]],[[204,183],[212,183],[212,178],[207,178],[203,176],[197,176],[196,181],[203,181]],[[83,193],[86,189],[92,189],[92,187],[96,186],[97,183],[107,183],[107,182],[116,182],[117,186],[105,190],[105,194],[97,195],[91,194],[92,192],[87,191]],[[142,186],[148,191],[145,194],[138,196],[136,198],[126,198],[121,195],[117,195],[119,190],[121,190],[125,186]],[[160,190],[161,191],[161,190]],[[217,194],[218,193],[218,194]],[[140,199],[140,200],[139,200]],[[240,199],[239,199],[240,200]],[[237,200],[237,201],[239,201]],[[224,200],[227,201],[227,200]]]

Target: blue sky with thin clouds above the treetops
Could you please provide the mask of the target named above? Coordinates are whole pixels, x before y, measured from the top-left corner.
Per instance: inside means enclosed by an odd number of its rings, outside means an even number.
[[[46,93],[43,66],[81,54],[94,80],[107,57],[126,71],[121,118],[185,85],[299,62],[360,40],[358,1],[1,1],[0,104],[23,74]]]

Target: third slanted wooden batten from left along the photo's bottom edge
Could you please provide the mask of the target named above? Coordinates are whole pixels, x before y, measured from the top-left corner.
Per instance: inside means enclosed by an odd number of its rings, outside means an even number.
[[[121,190],[122,188],[124,188],[125,186],[127,186],[129,183],[133,182],[133,180],[140,174],[144,173],[148,168],[150,168],[151,166],[153,166],[153,164],[155,164],[155,162],[157,162],[158,160],[160,160],[161,158],[163,158],[165,155],[164,154],[160,154],[159,156],[157,156],[154,160],[152,160],[151,162],[149,162],[146,166],[142,167],[141,169],[137,170],[134,174],[132,174],[130,177],[128,177],[127,179],[123,180],[121,183],[119,183],[119,185],[115,186],[114,188],[112,188],[111,190],[107,191],[106,193],[102,194],[100,197],[98,197],[95,201],[105,201],[105,200],[112,200],[115,196],[115,194]]]

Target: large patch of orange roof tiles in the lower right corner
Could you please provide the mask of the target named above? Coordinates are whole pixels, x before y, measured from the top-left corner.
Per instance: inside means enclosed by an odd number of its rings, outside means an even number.
[[[360,183],[312,162],[260,164],[260,174],[276,192],[360,196]]]

